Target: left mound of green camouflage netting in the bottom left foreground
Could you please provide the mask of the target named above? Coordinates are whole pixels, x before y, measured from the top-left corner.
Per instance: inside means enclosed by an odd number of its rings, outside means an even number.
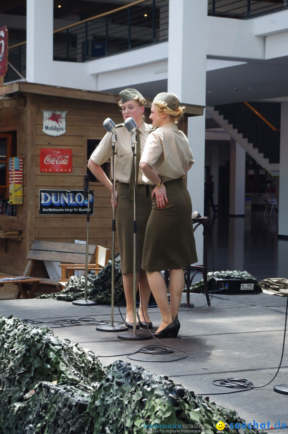
[[[17,318],[0,317],[1,433],[72,432],[69,427],[82,426],[83,421],[82,418],[76,421],[75,415],[67,412],[76,407],[76,401],[87,402],[103,378],[105,370],[93,352],[57,338],[46,327],[33,327]],[[41,384],[43,381],[49,385],[53,397],[49,401],[46,399],[48,391]],[[56,418],[56,409],[61,413],[59,418]],[[50,429],[36,427],[39,413],[41,427],[48,427],[52,418],[55,419]],[[33,424],[32,431],[30,424]]]

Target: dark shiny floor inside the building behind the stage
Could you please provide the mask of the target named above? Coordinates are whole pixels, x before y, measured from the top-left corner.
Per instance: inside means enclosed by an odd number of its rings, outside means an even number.
[[[247,271],[260,281],[268,277],[288,278],[288,240],[278,239],[278,217],[264,208],[251,216],[230,217],[228,207],[218,214],[209,210],[208,271]],[[214,254],[213,254],[214,253]]]

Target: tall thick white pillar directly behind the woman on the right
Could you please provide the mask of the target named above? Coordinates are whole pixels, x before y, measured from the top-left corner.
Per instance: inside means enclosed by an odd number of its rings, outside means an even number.
[[[206,103],[207,0],[169,1],[168,92],[188,104]],[[205,111],[188,119],[188,140],[195,164],[187,175],[193,210],[204,211]],[[203,258],[203,235],[195,232],[199,262]]]

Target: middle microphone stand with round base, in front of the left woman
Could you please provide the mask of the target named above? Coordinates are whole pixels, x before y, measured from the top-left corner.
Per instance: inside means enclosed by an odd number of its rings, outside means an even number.
[[[115,193],[116,193],[116,154],[117,154],[117,137],[115,130],[112,132],[112,150],[113,150],[113,220],[112,220],[112,269],[111,269],[111,324],[97,325],[96,330],[100,332],[119,332],[128,330],[128,327],[124,324],[114,324],[114,287],[115,287]]]

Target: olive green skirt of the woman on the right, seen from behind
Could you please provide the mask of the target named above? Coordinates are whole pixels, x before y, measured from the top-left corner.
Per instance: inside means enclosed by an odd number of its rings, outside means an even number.
[[[182,179],[164,185],[168,204],[157,208],[156,199],[152,199],[144,240],[141,267],[150,272],[178,270],[197,262],[190,194]]]

